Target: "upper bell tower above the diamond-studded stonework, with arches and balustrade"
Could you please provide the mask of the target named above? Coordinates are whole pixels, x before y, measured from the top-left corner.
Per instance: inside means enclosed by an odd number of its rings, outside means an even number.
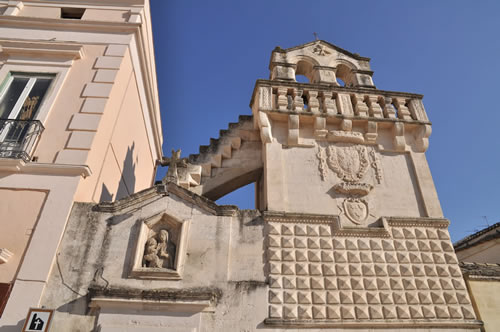
[[[376,89],[369,61],[321,40],[273,50],[270,80],[257,82],[252,100],[264,144],[261,207],[338,215],[349,227],[443,216],[422,96]]]

